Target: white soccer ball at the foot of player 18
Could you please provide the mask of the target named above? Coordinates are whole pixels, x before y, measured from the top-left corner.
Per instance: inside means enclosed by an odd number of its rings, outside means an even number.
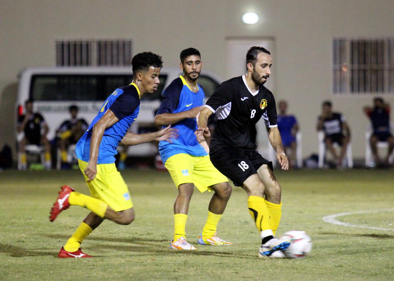
[[[312,241],[305,231],[291,230],[283,234],[281,239],[291,240],[290,246],[283,252],[288,258],[303,258],[312,250]]]

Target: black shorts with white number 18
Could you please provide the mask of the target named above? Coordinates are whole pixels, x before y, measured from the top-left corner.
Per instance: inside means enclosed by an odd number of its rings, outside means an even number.
[[[249,176],[257,174],[258,168],[267,164],[273,170],[272,162],[264,159],[257,151],[245,151],[239,148],[223,147],[210,150],[209,157],[215,168],[227,176],[235,186],[243,186]]]

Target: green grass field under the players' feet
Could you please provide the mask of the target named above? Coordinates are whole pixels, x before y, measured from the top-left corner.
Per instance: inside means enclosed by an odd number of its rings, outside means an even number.
[[[59,187],[87,194],[79,171],[0,173],[1,280],[394,280],[394,210],[338,217],[372,230],[333,225],[325,215],[394,208],[394,170],[277,171],[282,185],[278,234],[305,230],[312,238],[306,259],[258,259],[261,240],[247,210],[245,191],[234,188],[218,236],[231,247],[170,251],[177,190],[168,173],[122,172],[136,220],[104,221],[83,243],[93,259],[57,254],[88,213],[66,210],[54,223],[49,210]],[[186,232],[197,246],[211,195],[193,195]]]

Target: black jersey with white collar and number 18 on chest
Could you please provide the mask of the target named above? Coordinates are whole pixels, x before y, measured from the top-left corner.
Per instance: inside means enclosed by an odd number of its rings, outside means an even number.
[[[263,85],[253,93],[245,76],[223,82],[208,99],[205,107],[217,112],[217,125],[210,149],[230,146],[256,150],[256,123],[264,118],[267,127],[277,127],[273,94]]]

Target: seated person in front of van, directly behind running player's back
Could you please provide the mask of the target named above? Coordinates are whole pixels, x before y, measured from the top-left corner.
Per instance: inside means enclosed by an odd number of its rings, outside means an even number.
[[[68,162],[67,149],[69,145],[76,144],[89,127],[85,119],[77,118],[78,107],[76,105],[71,105],[69,107],[69,112],[71,118],[65,120],[57,131],[57,135],[60,138],[59,148],[61,150],[61,161],[63,163]]]

